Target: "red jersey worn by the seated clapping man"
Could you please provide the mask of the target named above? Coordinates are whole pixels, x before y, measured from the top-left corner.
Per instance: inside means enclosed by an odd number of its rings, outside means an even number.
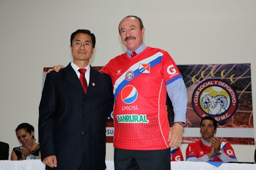
[[[191,157],[200,158],[208,154],[211,148],[212,146],[204,145],[202,140],[190,143],[186,149],[186,159]],[[236,158],[234,149],[231,147],[229,142],[222,141],[220,144],[220,149],[222,149],[223,152],[226,153],[226,155],[228,155],[230,158]],[[209,161],[222,162],[217,154],[215,154]]]

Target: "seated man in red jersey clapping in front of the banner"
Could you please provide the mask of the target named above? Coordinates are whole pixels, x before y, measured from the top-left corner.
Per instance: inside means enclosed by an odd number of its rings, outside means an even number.
[[[203,117],[200,124],[201,140],[190,143],[186,149],[186,160],[194,162],[237,162],[234,149],[227,141],[214,137],[217,121]]]

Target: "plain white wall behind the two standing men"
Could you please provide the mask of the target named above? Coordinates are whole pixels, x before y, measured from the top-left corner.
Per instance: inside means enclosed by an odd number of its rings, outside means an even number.
[[[34,125],[38,137],[43,67],[72,60],[73,31],[95,33],[90,64],[104,66],[126,51],[118,24],[128,15],[142,19],[146,45],[168,51],[176,64],[251,63],[254,92],[255,9],[255,0],[0,0],[0,141],[10,152],[19,146],[14,129],[23,122]],[[254,145],[233,147],[238,161],[254,162]],[[112,158],[107,144],[106,159]]]

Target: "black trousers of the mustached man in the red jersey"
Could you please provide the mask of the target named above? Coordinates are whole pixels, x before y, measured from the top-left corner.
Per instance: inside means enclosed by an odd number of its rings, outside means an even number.
[[[115,170],[170,170],[170,148],[163,150],[114,149]]]

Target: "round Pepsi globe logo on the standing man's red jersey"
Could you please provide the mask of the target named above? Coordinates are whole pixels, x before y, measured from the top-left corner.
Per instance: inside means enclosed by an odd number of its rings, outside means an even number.
[[[128,85],[122,89],[121,98],[124,103],[131,104],[135,102],[137,97],[138,97],[138,92],[134,86]]]

